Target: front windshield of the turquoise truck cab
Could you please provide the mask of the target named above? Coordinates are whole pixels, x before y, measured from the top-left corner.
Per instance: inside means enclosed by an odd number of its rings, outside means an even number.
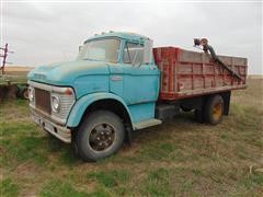
[[[121,40],[117,38],[90,40],[81,48],[77,60],[117,62]]]

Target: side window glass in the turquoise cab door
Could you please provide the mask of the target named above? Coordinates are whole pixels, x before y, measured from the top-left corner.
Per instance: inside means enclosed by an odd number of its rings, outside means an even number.
[[[126,43],[123,61],[125,63],[141,65],[144,62],[144,45]]]

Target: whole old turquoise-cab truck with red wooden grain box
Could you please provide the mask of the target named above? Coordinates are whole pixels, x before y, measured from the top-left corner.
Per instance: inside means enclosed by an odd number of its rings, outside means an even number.
[[[231,90],[244,89],[247,59],[178,47],[152,48],[133,33],[94,35],[75,61],[41,66],[28,79],[30,108],[44,130],[72,142],[84,161],[115,153],[133,130],[180,111],[211,125],[228,115]]]

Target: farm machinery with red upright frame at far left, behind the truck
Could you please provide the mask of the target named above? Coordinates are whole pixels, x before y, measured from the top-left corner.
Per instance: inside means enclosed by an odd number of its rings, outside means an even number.
[[[0,58],[2,63],[0,67],[0,103],[10,99],[27,99],[26,74],[5,71],[8,55],[14,51],[9,50],[8,44],[0,47]]]

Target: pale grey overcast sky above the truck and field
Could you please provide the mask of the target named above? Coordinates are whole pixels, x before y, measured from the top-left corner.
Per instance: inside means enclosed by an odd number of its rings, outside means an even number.
[[[249,73],[263,73],[262,2],[12,2],[1,0],[1,46],[13,65],[72,60],[95,33],[128,31],[155,46],[193,49],[207,37],[217,54],[247,57]]]

